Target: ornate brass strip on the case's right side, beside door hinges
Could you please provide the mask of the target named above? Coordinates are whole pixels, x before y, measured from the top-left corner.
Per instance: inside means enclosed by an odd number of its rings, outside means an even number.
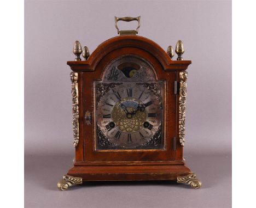
[[[185,111],[186,111],[186,97],[187,97],[187,78],[188,72],[181,71],[179,72],[179,143],[184,146],[185,142]]]

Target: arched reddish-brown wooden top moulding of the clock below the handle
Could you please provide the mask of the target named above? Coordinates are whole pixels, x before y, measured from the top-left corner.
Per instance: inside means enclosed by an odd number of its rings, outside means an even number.
[[[144,50],[154,56],[165,71],[182,71],[188,68],[191,60],[172,60],[165,50],[156,42],[137,35],[121,35],[108,39],[100,44],[94,52],[91,53],[88,60],[69,61],[73,71],[94,71],[97,64],[108,53],[119,48],[133,47]]]

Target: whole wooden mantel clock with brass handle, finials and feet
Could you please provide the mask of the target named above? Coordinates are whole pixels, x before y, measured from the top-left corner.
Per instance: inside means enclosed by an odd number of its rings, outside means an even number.
[[[118,21],[137,21],[119,30]],[[115,36],[89,53],[75,41],[72,72],[74,167],[57,186],[83,181],[176,180],[201,187],[184,164],[187,71],[183,42],[165,52],[138,36],[141,17],[115,17]],[[84,60],[81,60],[82,54]]]

